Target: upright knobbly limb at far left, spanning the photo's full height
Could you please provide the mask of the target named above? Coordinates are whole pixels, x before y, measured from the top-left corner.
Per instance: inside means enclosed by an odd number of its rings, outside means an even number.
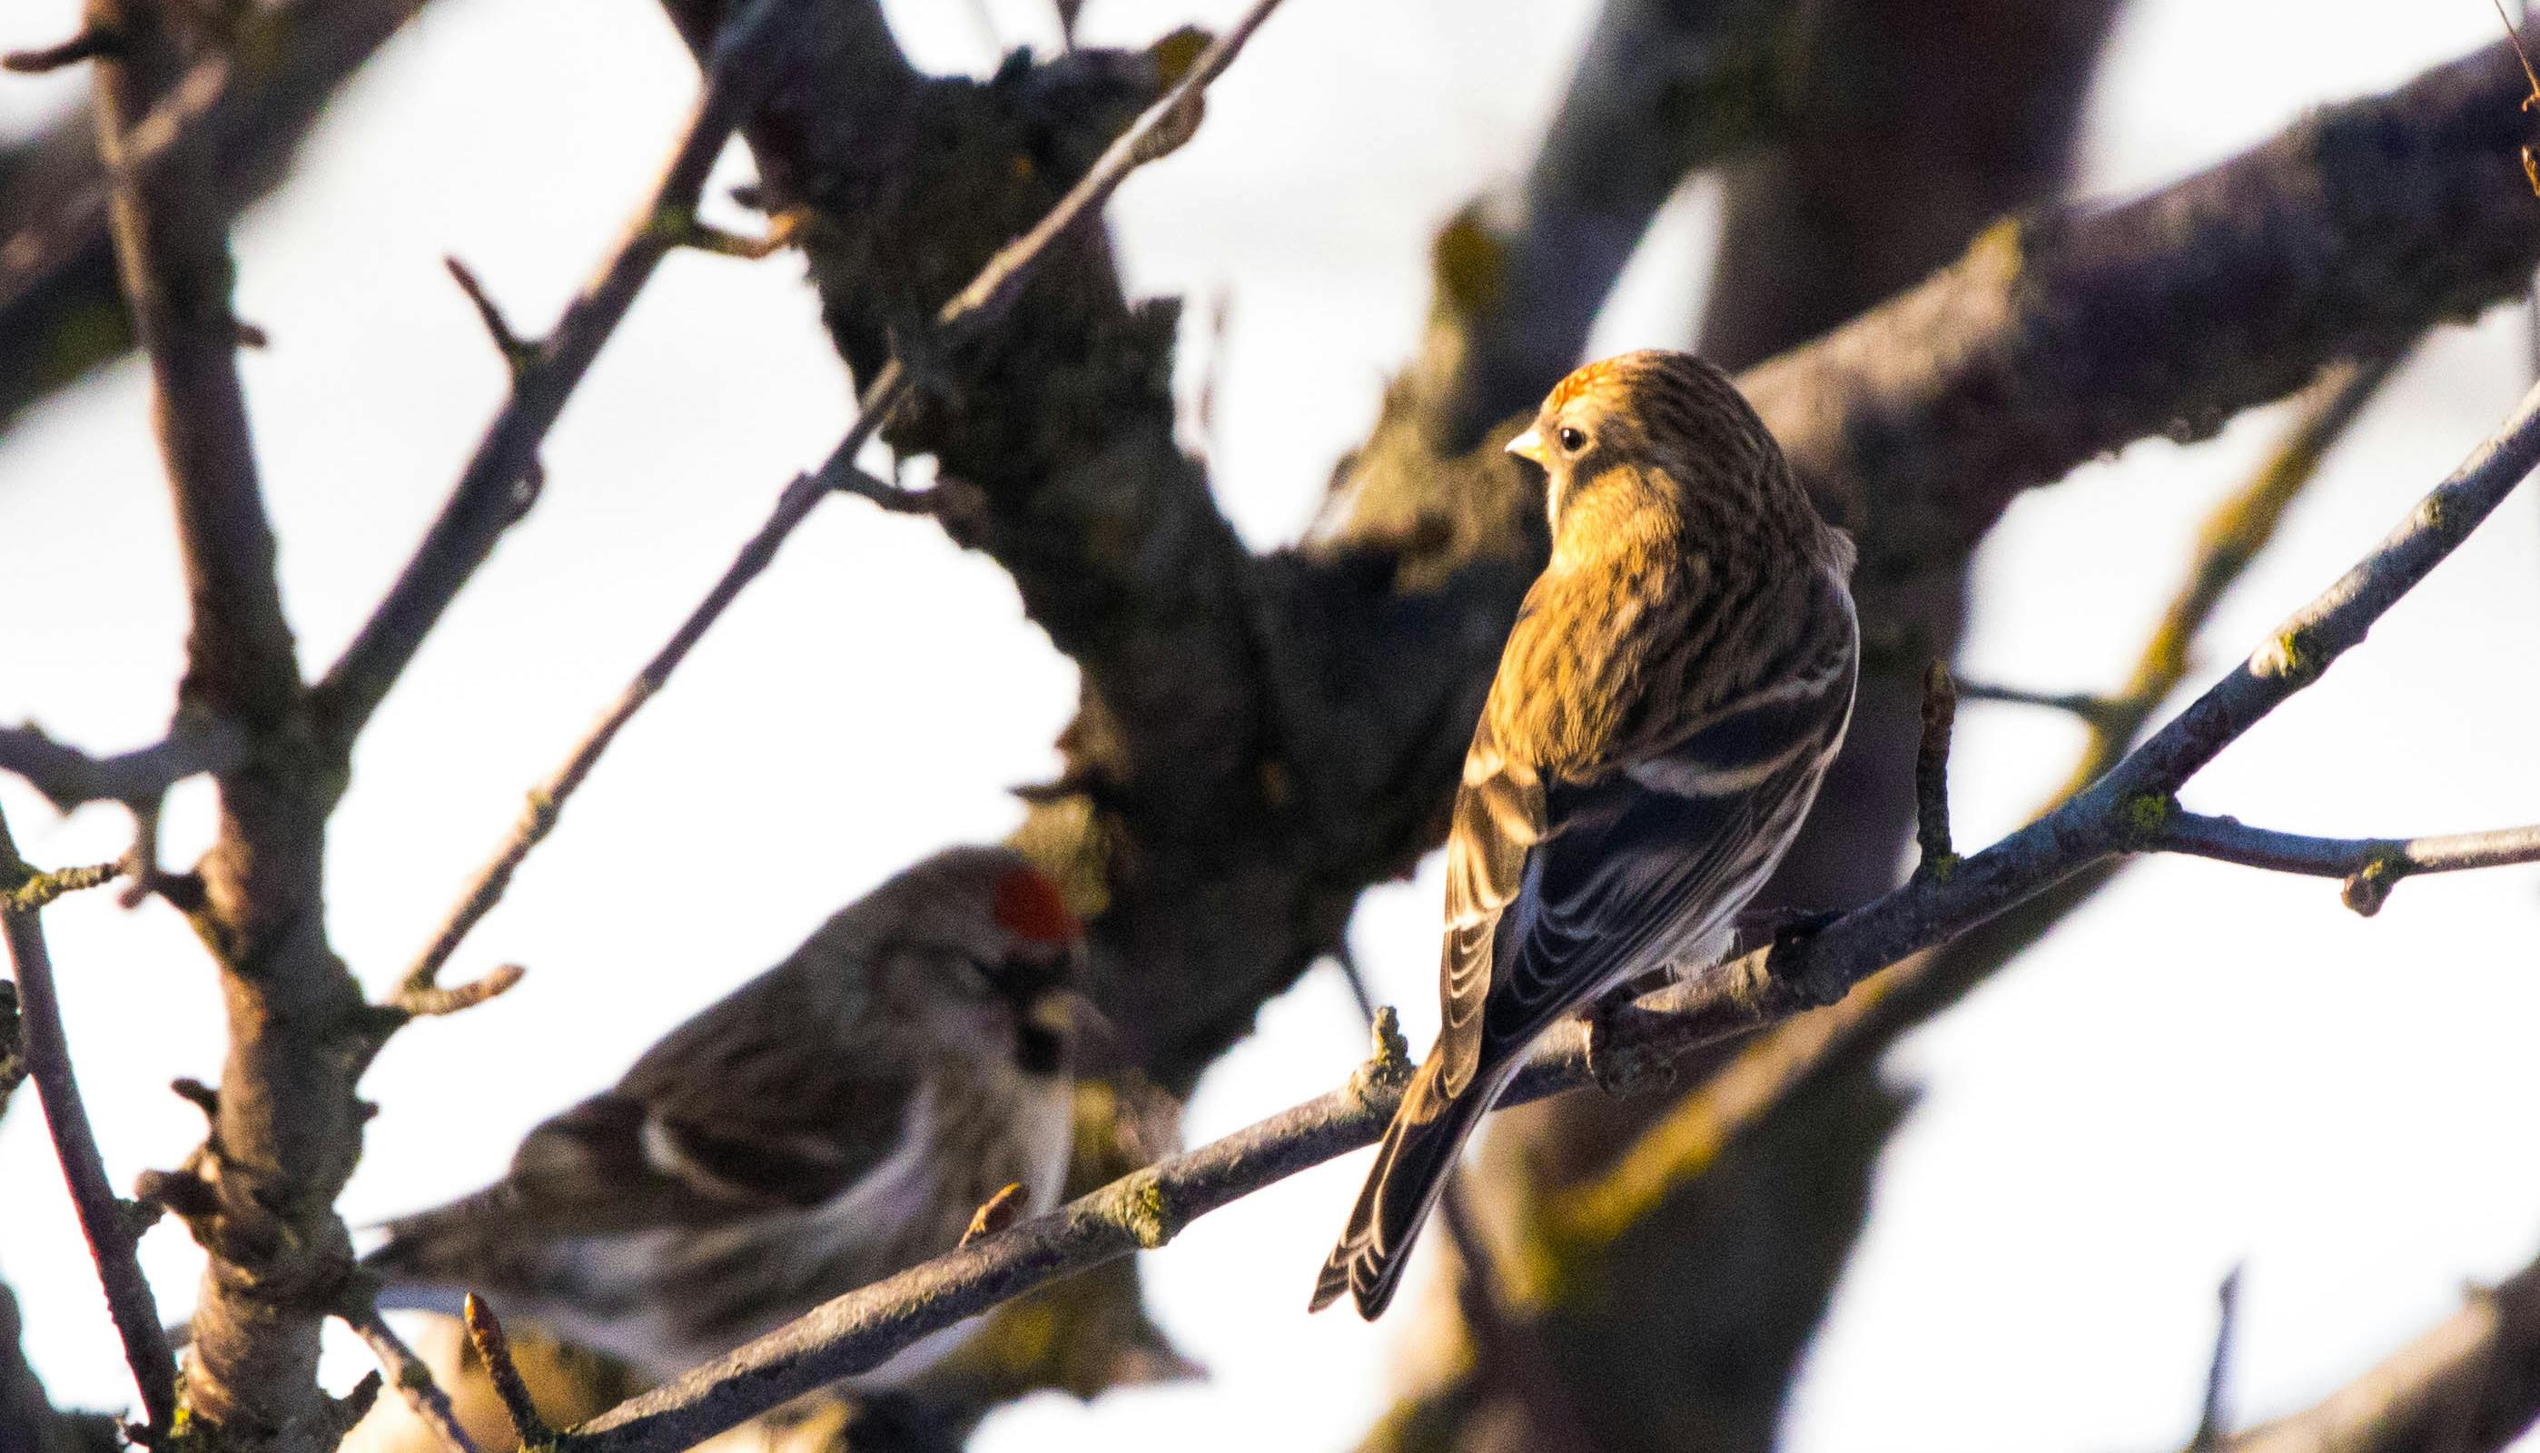
[[[361,1395],[338,1402],[318,1387],[325,1288],[351,1265],[333,1199],[361,1153],[356,1067],[338,1044],[361,991],[320,914],[333,795],[300,732],[300,668],[239,391],[229,218],[211,175],[221,157],[180,150],[132,165],[132,130],[188,74],[185,36],[170,28],[185,20],[155,0],[89,0],[86,23],[119,36],[97,61],[99,155],[185,561],[193,625],[178,716],[234,721],[246,739],[218,777],[221,828],[188,904],[221,963],[226,1092],[185,1171],[150,1176],[150,1199],[211,1252],[185,1415],[241,1450],[297,1453],[340,1435],[361,1407]]]

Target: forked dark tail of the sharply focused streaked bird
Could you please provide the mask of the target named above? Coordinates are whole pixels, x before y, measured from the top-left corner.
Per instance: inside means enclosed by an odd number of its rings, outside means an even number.
[[[1359,1189],[1359,1204],[1349,1212],[1349,1227],[1313,1280],[1308,1311],[1323,1311],[1346,1290],[1356,1298],[1359,1316],[1374,1321],[1394,1298],[1394,1283],[1402,1280],[1420,1227],[1445,1194],[1455,1156],[1506,1082],[1506,1075],[1478,1075],[1460,1095],[1445,1095],[1438,1090],[1443,1062],[1443,1054],[1430,1054],[1402,1092],[1402,1108],[1384,1128],[1384,1143],[1377,1148],[1367,1186]]]

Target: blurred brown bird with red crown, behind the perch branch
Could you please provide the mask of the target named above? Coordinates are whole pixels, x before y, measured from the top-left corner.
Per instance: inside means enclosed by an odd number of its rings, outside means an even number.
[[[952,1250],[1008,1184],[1044,1212],[1067,1176],[1080,958],[1074,914],[1019,854],[937,854],[531,1130],[500,1181],[389,1222],[381,1306],[475,1290],[668,1379]]]

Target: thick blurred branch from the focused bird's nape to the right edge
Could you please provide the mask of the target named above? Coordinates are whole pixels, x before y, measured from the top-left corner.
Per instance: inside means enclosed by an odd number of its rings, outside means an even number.
[[[1953,561],[2019,490],[2522,295],[2520,99],[2497,43],[2139,201],[2007,221],[1740,386],[1864,569]]]

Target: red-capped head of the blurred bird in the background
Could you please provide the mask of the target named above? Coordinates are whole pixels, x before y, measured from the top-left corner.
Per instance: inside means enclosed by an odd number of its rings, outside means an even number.
[[[892,879],[897,965],[879,986],[955,1052],[1067,1075],[1085,1014],[1085,925],[1011,848],[947,848]]]

